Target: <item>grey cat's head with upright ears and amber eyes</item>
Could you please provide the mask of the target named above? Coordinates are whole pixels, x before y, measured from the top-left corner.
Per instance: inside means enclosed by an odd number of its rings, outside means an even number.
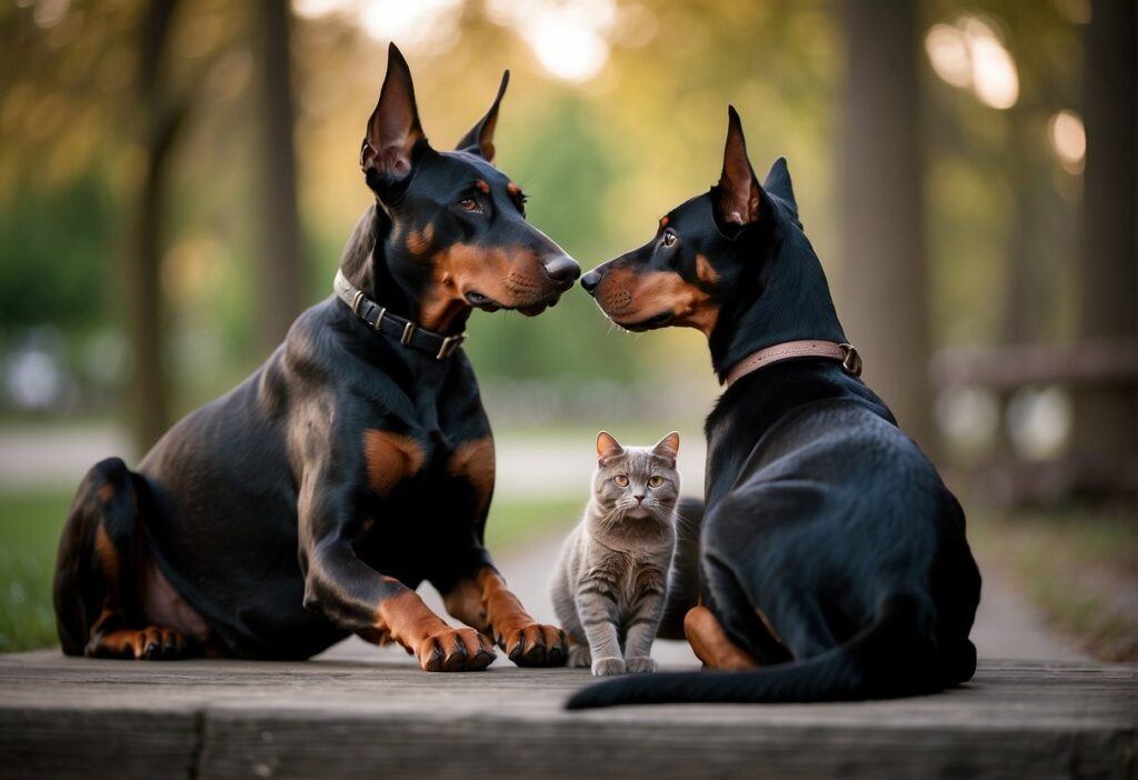
[[[670,520],[679,498],[676,455],[679,434],[671,432],[653,447],[621,447],[609,433],[596,437],[593,497],[617,517]]]

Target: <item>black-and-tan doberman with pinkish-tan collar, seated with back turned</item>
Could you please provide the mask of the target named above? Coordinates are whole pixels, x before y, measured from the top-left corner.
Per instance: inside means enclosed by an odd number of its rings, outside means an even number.
[[[734,108],[719,183],[582,284],[621,327],[708,337],[726,390],[706,426],[702,606],[684,628],[712,669],[772,666],[621,678],[568,706],[888,698],[970,680],[980,572],[964,513],[858,379],[785,160],[759,184]]]

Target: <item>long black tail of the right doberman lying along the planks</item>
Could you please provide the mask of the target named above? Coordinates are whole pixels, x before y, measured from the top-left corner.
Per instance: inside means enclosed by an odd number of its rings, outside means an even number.
[[[931,633],[925,630],[930,616],[923,599],[892,596],[861,632],[814,658],[753,672],[622,677],[577,691],[566,706],[841,702],[931,694],[945,688],[945,679]]]

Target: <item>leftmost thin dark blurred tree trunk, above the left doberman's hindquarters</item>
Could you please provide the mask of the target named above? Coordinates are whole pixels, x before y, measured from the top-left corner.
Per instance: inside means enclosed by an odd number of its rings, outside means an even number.
[[[131,421],[138,454],[149,449],[170,424],[160,284],[163,222],[171,152],[187,103],[172,96],[163,61],[178,5],[178,0],[148,2],[139,31],[138,100],[143,164],[135,189],[133,247],[127,254],[126,269],[133,354]]]

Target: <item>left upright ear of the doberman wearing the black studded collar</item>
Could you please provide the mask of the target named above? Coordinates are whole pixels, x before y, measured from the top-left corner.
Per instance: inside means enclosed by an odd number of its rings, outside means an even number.
[[[411,173],[411,150],[422,138],[411,68],[391,43],[387,50],[387,75],[384,76],[379,102],[368,121],[368,132],[360,149],[360,167],[369,183],[376,174],[378,183],[406,179]]]

